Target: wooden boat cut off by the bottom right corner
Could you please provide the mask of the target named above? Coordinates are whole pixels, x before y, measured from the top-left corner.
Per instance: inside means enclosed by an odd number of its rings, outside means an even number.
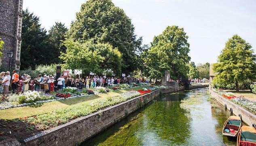
[[[237,135],[237,146],[256,146],[256,129],[242,126]]]

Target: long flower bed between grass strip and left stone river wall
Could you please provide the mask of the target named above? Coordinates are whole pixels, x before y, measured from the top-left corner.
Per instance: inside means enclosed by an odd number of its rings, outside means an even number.
[[[51,113],[44,113],[37,116],[20,118],[26,123],[33,123],[33,125],[41,125],[44,129],[58,126],[72,119],[86,116],[108,106],[125,102],[131,98],[140,96],[137,91],[129,91],[121,94],[121,96],[108,97],[103,100],[95,100],[93,102],[80,103],[72,107],[59,109]]]

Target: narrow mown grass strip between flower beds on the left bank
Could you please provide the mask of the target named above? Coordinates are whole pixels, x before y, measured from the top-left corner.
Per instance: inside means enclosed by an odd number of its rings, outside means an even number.
[[[77,104],[91,102],[93,100],[101,100],[106,97],[119,96],[123,92],[130,91],[130,90],[142,90],[142,88],[145,88],[145,87],[147,86],[130,88],[126,90],[118,90],[114,92],[108,92],[106,94],[98,94],[98,95],[93,95],[89,97],[80,97],[80,98],[72,98],[72,99],[66,99],[66,100],[47,102],[44,104],[34,105],[34,106],[23,106],[18,108],[0,110],[0,119],[11,120],[11,119],[17,119],[20,117],[30,117],[34,115],[43,114],[43,113],[49,113],[57,109],[75,106]]]

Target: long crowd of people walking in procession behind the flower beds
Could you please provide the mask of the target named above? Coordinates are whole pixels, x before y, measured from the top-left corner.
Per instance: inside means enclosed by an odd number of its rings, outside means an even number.
[[[110,86],[112,84],[120,84],[120,83],[140,83],[147,82],[148,80],[144,78],[134,78],[134,77],[106,77],[106,76],[87,76],[85,78],[76,78],[72,77],[72,75],[68,75],[68,77],[64,77],[60,75],[57,77],[56,75],[42,75],[39,74],[38,77],[32,78],[28,74],[19,75],[16,70],[13,71],[13,75],[11,77],[10,72],[2,72],[0,73],[0,92],[3,92],[4,95],[8,95],[9,86],[11,86],[11,92],[24,92],[24,91],[56,91],[61,90],[66,87],[76,87],[78,89],[82,88],[96,88],[97,86],[105,87]]]

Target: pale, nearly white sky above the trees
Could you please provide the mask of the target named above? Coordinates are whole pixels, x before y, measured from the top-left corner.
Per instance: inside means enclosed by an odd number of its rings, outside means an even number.
[[[55,22],[69,28],[86,0],[23,0],[49,30]],[[150,44],[169,25],[188,35],[191,61],[215,63],[228,38],[238,34],[256,50],[256,0],[112,0],[135,26],[135,33]]]

